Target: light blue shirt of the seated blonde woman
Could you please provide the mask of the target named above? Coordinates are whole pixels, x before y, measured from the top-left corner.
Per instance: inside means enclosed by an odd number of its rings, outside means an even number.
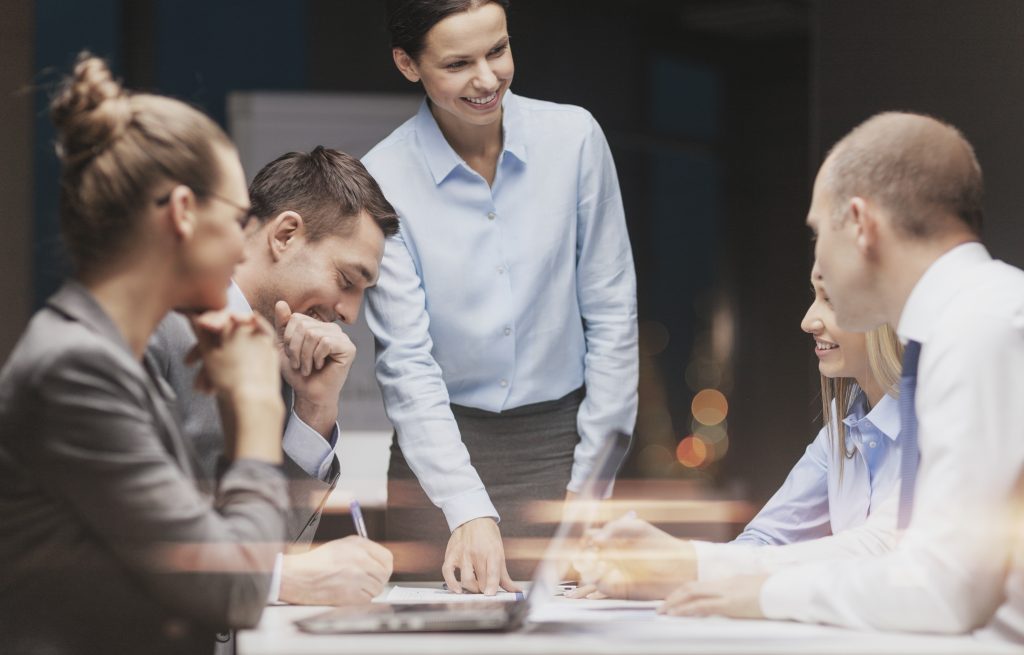
[[[835,439],[822,428],[735,543],[781,545],[838,534],[862,524],[899,488],[899,403],[886,395],[866,407],[860,392],[843,420],[854,455],[844,461],[842,480]]]

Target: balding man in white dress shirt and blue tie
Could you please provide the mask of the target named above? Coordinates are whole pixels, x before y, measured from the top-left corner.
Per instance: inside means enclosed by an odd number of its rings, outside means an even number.
[[[952,126],[882,114],[836,144],[807,224],[840,326],[906,343],[908,525],[885,555],[684,584],[663,611],[1024,642],[1024,273],[991,259],[981,220],[981,167]]]

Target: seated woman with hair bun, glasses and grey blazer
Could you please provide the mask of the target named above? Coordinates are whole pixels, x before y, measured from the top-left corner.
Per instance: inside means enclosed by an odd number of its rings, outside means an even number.
[[[288,506],[272,330],[208,311],[242,259],[242,166],[209,118],[88,54],[51,117],[75,272],[0,372],[3,650],[212,652],[258,621]],[[212,497],[143,356],[174,308],[228,434]]]

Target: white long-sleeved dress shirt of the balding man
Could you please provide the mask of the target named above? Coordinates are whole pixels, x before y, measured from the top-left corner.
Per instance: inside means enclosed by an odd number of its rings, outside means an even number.
[[[897,332],[922,344],[910,524],[886,555],[775,573],[769,618],[965,632],[1004,602],[1024,465],[1024,272],[959,246],[914,287]]]

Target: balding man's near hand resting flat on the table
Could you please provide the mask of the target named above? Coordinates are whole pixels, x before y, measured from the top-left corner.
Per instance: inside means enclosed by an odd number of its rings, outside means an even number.
[[[764,618],[761,587],[767,579],[767,575],[741,575],[707,582],[687,582],[673,592],[657,612],[670,616]]]

